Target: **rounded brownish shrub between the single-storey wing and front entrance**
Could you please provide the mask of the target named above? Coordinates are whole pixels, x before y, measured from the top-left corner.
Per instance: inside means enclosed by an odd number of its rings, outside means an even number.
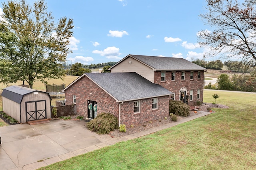
[[[169,101],[169,114],[174,113],[178,116],[187,117],[190,115],[190,107],[182,101],[170,100]]]

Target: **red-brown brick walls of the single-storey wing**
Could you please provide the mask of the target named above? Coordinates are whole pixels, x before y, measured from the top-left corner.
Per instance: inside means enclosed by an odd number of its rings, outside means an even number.
[[[119,117],[119,103],[108,93],[93,83],[88,77],[83,77],[65,91],[66,105],[72,105],[73,95],[76,95],[76,113],[88,117],[87,101],[97,102],[97,113],[109,112]],[[140,113],[134,114],[134,101],[121,105],[120,123],[126,126],[168,117],[169,97],[158,97],[158,109],[152,110],[152,98],[140,100]]]

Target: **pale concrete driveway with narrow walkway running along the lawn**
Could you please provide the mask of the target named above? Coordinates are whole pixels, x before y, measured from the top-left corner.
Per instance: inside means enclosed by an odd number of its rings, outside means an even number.
[[[1,170],[34,170],[96,149],[131,140],[163,130],[198,117],[211,114],[198,111],[198,115],[187,117],[160,127],[138,133],[112,138],[107,134],[90,132],[84,121],[51,120],[40,125],[19,124],[0,127]]]

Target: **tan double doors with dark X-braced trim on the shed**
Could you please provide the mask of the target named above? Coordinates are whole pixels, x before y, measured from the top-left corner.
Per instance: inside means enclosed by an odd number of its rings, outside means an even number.
[[[46,119],[46,100],[26,102],[26,122]]]

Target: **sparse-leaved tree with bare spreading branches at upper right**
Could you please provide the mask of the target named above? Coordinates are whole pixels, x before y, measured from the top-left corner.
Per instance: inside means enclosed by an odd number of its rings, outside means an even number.
[[[207,0],[208,13],[200,14],[214,28],[198,33],[201,46],[210,46],[209,55],[220,54],[224,58],[237,57],[242,63],[256,61],[256,2],[245,0]]]

